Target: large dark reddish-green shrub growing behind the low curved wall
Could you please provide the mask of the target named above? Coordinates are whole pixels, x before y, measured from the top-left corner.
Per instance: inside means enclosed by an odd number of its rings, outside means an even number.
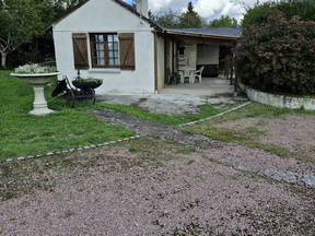
[[[272,10],[243,30],[236,49],[241,81],[273,93],[315,94],[315,22]]]

